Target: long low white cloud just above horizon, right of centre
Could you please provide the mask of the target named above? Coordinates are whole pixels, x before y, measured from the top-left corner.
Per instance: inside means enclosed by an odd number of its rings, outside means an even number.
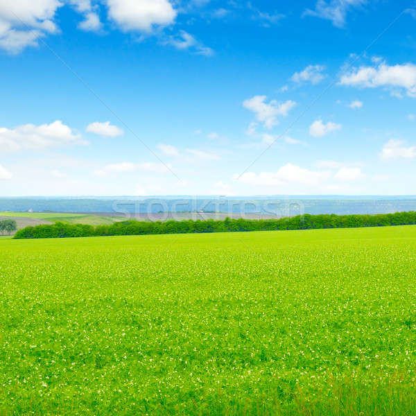
[[[234,180],[255,186],[279,186],[284,184],[318,185],[329,177],[328,172],[311,171],[294,164],[281,166],[276,172],[246,172],[243,175],[234,175]]]

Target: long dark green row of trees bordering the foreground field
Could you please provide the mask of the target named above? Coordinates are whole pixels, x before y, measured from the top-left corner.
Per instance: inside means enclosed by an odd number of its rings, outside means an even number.
[[[125,220],[112,225],[55,223],[19,229],[15,239],[53,239],[89,236],[130,236],[144,234],[187,234],[209,232],[275,231],[290,229],[384,227],[416,224],[416,211],[376,215],[309,215],[268,220],[169,220],[145,222]]]

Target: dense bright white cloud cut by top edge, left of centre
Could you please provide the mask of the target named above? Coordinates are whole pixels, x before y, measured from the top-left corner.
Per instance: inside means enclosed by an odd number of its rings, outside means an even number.
[[[151,33],[155,26],[173,24],[176,10],[168,0],[107,0],[108,16],[122,31]]]

